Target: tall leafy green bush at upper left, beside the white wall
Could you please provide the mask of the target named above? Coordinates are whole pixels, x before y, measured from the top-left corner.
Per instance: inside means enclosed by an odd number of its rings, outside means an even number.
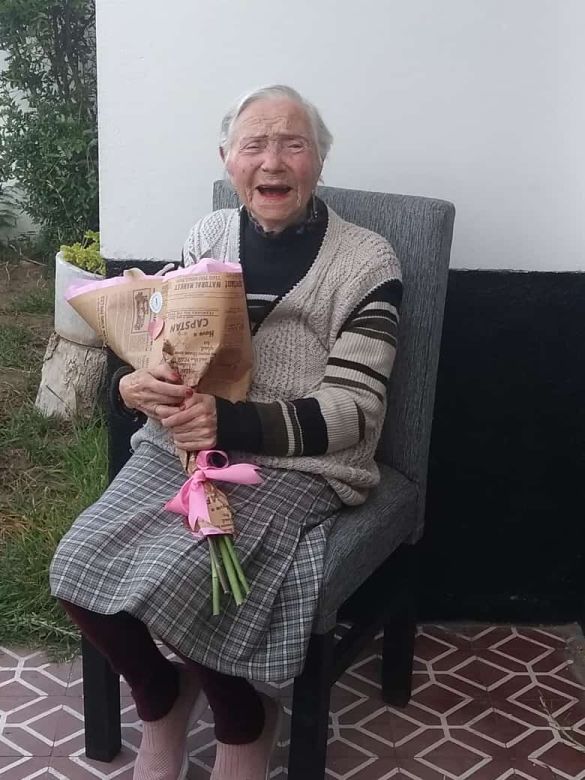
[[[0,0],[0,171],[53,248],[98,229],[94,0]]]

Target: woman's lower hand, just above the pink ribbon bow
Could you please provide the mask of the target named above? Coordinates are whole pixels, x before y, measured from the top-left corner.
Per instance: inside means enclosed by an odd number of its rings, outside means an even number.
[[[197,452],[216,446],[217,409],[213,395],[193,393],[179,411],[168,406],[160,409],[160,421],[169,429],[177,449]]]

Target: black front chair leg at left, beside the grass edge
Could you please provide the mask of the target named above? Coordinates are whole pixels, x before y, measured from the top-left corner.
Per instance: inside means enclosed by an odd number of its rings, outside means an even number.
[[[120,678],[104,656],[82,639],[85,755],[112,761],[122,746]]]

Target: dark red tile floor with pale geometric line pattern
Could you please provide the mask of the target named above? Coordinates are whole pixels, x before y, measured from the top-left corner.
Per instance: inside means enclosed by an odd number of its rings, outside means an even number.
[[[570,652],[578,633],[423,626],[403,710],[380,698],[377,640],[335,686],[327,777],[585,778],[585,689]],[[276,692],[288,714],[291,692]],[[42,653],[0,647],[0,780],[131,778],[140,724],[126,688],[122,696],[121,754],[111,764],[88,761],[79,660],[51,664]],[[287,744],[284,729],[272,778],[286,776]],[[190,780],[209,777],[213,749],[207,713],[191,732]]]

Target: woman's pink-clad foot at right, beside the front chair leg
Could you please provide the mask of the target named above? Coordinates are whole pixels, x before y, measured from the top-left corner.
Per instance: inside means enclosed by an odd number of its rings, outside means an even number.
[[[218,742],[210,780],[268,780],[270,759],[280,734],[282,707],[275,699],[260,696],[265,715],[262,734],[244,745]]]

